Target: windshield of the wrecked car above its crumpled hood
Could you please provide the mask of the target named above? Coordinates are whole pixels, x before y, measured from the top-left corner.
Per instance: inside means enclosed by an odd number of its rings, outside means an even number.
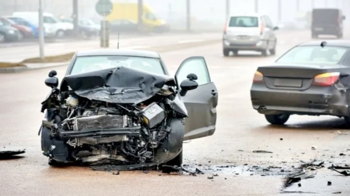
[[[159,58],[138,56],[80,56],[76,58],[70,74],[82,74],[116,67],[165,74]]]

